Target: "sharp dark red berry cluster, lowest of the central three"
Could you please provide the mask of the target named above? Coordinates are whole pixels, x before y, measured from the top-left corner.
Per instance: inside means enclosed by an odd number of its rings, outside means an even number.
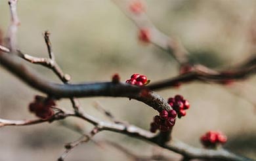
[[[175,110],[171,109],[170,111],[166,111],[163,109],[163,111],[159,113],[159,116],[154,116],[154,120],[150,124],[150,132],[156,132],[158,129],[161,132],[171,130],[175,124],[176,116],[177,113]]]

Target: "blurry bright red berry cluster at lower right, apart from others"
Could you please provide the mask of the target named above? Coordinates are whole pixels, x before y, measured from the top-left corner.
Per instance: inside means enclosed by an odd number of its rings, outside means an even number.
[[[201,143],[207,148],[216,148],[217,145],[226,143],[226,135],[221,132],[209,131],[200,138]]]

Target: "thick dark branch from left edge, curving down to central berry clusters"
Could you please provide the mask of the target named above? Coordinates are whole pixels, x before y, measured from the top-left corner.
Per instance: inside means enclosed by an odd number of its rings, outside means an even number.
[[[3,67],[6,67],[14,75],[26,82],[26,84],[56,98],[93,96],[127,97],[142,101],[158,111],[171,109],[171,106],[154,92],[148,92],[146,96],[142,96],[140,94],[141,88],[138,86],[131,86],[130,84],[121,82],[117,84],[113,82],[56,84],[37,75],[32,69],[20,63],[15,56],[10,54],[0,53],[0,63]]]

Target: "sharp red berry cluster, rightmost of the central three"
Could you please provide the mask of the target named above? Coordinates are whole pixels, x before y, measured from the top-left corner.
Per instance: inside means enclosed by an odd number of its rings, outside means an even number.
[[[185,116],[185,110],[190,107],[188,100],[184,99],[181,95],[176,95],[175,98],[169,98],[168,103],[177,112],[179,118]]]

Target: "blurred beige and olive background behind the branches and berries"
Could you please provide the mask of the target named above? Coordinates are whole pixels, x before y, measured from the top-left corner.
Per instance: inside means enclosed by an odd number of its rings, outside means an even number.
[[[0,1],[0,28],[7,33],[9,6]],[[192,61],[213,69],[228,68],[255,54],[255,0],[148,0],[146,11],[152,22],[172,37],[179,38],[191,53]],[[47,57],[43,32],[51,32],[56,61],[72,82],[110,80],[119,73],[125,81],[133,73],[147,75],[151,82],[175,77],[179,65],[169,54],[154,45],[144,45],[137,39],[138,29],[110,0],[24,0],[18,2],[18,47],[26,54]],[[30,65],[41,75],[60,82],[53,72]],[[207,130],[221,130],[228,136],[224,147],[230,151],[256,159],[256,77],[233,86],[192,82],[180,88],[158,92],[163,98],[181,94],[191,108],[178,120],[173,137],[193,145],[200,145],[200,135]],[[40,94],[0,67],[0,118],[35,118],[28,104]],[[87,113],[107,119],[94,107],[98,101],[118,119],[149,129],[157,112],[144,103],[127,98],[79,99]],[[70,101],[58,101],[60,107],[72,109]],[[140,115],[140,117],[138,117]],[[71,124],[84,132],[92,126],[79,119],[33,126],[0,128],[0,160],[56,160],[64,151],[64,144],[79,134],[65,128]],[[115,141],[135,154],[150,156],[152,151],[179,159],[171,151],[158,149],[131,137],[101,132],[95,141]],[[66,160],[129,160],[117,149],[99,147],[92,141],[77,147]]]

